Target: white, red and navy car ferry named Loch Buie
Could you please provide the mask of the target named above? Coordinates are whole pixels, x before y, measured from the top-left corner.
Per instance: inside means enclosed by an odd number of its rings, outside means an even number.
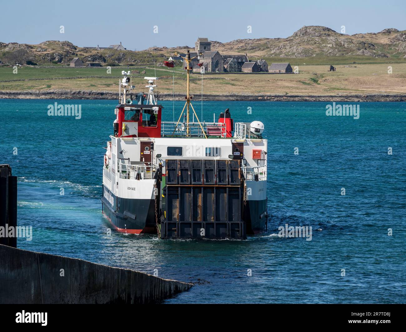
[[[133,94],[131,72],[122,72],[104,155],[102,211],[119,232],[160,239],[261,233],[268,218],[263,123],[234,122],[230,109],[217,122],[201,121],[189,89],[193,58],[189,51],[182,58],[187,94],[177,122],[162,121],[157,77],[145,77],[147,96]]]

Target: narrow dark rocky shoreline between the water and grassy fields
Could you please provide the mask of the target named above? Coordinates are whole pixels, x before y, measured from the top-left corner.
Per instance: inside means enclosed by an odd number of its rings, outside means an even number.
[[[172,100],[172,94],[158,94],[159,100]],[[92,90],[28,90],[28,91],[0,91],[0,99],[107,99],[117,98],[116,91]],[[184,100],[183,94],[175,94],[175,100]],[[197,96],[196,100],[201,100]],[[406,94],[348,94],[348,95],[203,95],[204,101],[406,101]]]

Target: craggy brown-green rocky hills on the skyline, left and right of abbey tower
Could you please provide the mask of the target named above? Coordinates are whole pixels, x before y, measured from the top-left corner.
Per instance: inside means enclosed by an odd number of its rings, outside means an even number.
[[[32,61],[68,63],[78,56],[83,61],[117,64],[151,64],[162,62],[173,51],[181,53],[194,47],[150,47],[146,51],[119,51],[114,49],[85,49],[69,41],[44,41],[38,45],[0,43],[0,60],[7,52],[24,48]],[[227,43],[212,41],[212,49],[221,54],[245,54],[257,57],[304,58],[326,56],[398,57],[406,52],[406,31],[395,28],[378,33],[341,34],[325,26],[304,26],[287,38],[236,39]],[[162,54],[158,52],[163,52]],[[5,61],[3,61],[5,62]],[[44,63],[45,62],[45,63]]]

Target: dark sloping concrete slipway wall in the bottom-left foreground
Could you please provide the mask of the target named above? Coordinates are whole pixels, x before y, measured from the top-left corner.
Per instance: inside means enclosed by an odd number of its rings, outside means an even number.
[[[0,245],[0,303],[154,303],[192,284]]]

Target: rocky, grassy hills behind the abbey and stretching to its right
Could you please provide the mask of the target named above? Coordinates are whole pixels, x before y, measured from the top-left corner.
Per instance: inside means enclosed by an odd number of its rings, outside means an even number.
[[[188,47],[157,50],[167,55],[175,49],[186,51]],[[406,30],[385,29],[377,33],[347,35],[323,26],[304,26],[287,38],[212,41],[212,50],[294,65],[406,63]]]

